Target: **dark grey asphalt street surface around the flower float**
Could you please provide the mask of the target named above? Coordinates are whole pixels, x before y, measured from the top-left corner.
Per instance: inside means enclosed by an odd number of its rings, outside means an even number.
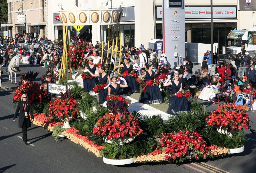
[[[45,67],[31,64],[20,64],[21,72],[17,73],[17,83],[22,73],[27,71],[39,72],[36,81],[46,73]],[[3,67],[5,70],[5,67]],[[69,139],[54,140],[52,132],[41,127],[32,126],[28,129],[27,137],[31,145],[22,141],[22,130],[18,128],[18,119],[12,121],[15,108],[11,105],[14,91],[18,85],[11,84],[8,75],[4,72],[2,88],[0,90],[0,173],[2,172],[254,172],[256,157],[256,134],[245,130],[245,151],[240,154],[231,154],[229,157],[206,161],[168,164],[134,163],[130,165],[114,166],[103,163],[103,158],[97,158],[93,153]],[[200,101],[207,106],[207,111],[217,109],[217,105]],[[250,111],[250,120],[256,122],[255,111]],[[256,129],[252,123],[252,129]]]

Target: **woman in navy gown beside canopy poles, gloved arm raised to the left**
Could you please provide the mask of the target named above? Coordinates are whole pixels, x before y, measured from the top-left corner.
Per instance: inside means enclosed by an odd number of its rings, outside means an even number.
[[[117,66],[114,62],[113,59],[111,59],[111,61],[113,62],[115,68],[122,68],[122,72],[125,71],[129,71],[131,72],[133,70],[133,65],[130,64],[131,60],[128,57],[125,57],[123,64]],[[137,84],[137,81],[135,79],[135,77],[131,77],[131,76],[125,76],[123,77],[126,82],[128,87],[123,89],[123,94],[132,94],[132,93],[138,93],[139,92],[139,86]],[[120,81],[121,84],[124,84],[123,81]]]

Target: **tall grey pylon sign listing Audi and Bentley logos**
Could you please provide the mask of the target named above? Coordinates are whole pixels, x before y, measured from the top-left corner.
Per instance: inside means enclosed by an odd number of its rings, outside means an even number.
[[[185,60],[185,9],[184,0],[163,0],[163,52],[171,68]],[[182,4],[182,8],[180,6]],[[170,6],[173,5],[173,6]],[[175,7],[175,8],[172,8]],[[181,58],[182,57],[182,58]],[[180,59],[179,59],[180,58]]]

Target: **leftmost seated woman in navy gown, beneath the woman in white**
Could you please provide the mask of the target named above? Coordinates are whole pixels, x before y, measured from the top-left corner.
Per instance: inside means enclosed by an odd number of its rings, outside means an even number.
[[[93,64],[92,58],[89,58],[88,60],[89,64],[86,65],[85,72],[89,72],[90,75],[93,76],[93,73],[95,73],[96,70],[97,72],[99,72],[99,68],[95,64]],[[88,93],[93,90],[94,86],[97,83],[99,83],[98,78],[83,79],[83,90]]]

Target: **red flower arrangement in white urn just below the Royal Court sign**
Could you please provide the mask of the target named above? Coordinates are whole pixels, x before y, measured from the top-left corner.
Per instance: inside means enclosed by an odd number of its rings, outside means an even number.
[[[71,91],[67,90],[66,93],[61,93],[59,98],[54,98],[49,104],[49,117],[56,116],[64,120],[75,118],[79,115],[77,112],[78,102],[70,96]],[[52,117],[53,118],[53,117]]]

